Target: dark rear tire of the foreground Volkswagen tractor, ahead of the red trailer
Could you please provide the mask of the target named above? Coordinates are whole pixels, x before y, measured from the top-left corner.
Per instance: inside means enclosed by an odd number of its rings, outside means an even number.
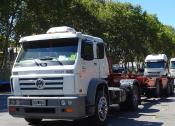
[[[131,91],[127,94],[126,101],[120,104],[122,110],[135,111],[138,109],[140,95],[137,85],[133,85]]]

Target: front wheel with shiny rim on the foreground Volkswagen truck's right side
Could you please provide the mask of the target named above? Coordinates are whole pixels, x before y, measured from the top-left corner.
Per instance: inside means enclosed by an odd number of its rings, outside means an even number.
[[[98,91],[95,101],[95,113],[90,117],[91,122],[96,125],[103,125],[106,122],[108,115],[108,99],[106,92]]]

